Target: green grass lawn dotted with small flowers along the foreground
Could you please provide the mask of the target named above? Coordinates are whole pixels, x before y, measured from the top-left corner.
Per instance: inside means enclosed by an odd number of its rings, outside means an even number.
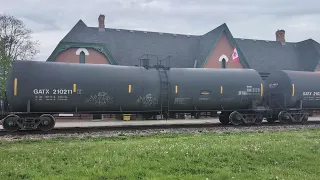
[[[319,179],[320,130],[0,141],[0,179]]]

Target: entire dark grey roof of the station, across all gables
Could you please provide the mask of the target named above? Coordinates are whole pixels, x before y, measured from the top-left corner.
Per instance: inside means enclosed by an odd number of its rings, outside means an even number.
[[[94,47],[105,54],[112,64],[139,65],[139,57],[151,54],[151,65],[156,58],[170,56],[171,67],[203,67],[220,36],[225,33],[233,47],[236,47],[244,68],[259,72],[273,70],[313,71],[320,61],[320,45],[314,40],[282,45],[278,41],[264,41],[234,38],[224,23],[204,35],[183,35],[150,31],[88,27],[82,20],[61,40],[48,61],[63,49],[81,45]],[[70,45],[71,43],[71,45]],[[67,45],[66,45],[67,44]]]

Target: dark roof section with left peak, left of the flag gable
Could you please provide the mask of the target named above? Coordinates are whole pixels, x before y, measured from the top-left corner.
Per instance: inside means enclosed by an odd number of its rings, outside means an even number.
[[[139,65],[139,58],[146,54],[150,64],[170,58],[172,67],[193,67],[198,54],[199,36],[158,33],[150,31],[133,31],[124,29],[87,27],[79,21],[61,42],[103,43],[117,64]],[[165,62],[163,62],[165,63]]]

